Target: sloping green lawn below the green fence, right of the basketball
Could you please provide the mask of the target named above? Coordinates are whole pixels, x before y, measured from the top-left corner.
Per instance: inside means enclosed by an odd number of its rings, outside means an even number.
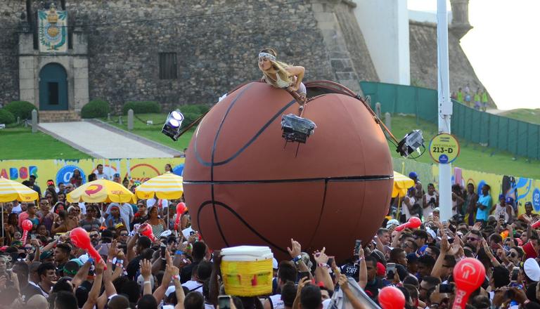
[[[406,133],[413,129],[423,131],[426,147],[428,147],[431,138],[437,134],[437,126],[430,122],[419,119],[418,124],[416,124],[416,117],[414,116],[392,117],[392,133],[397,140],[401,140]],[[458,140],[461,150],[459,157],[454,162],[454,166],[487,173],[540,179],[540,169],[538,168],[540,162],[538,160],[528,160],[523,157],[513,159],[515,156],[509,152],[482,147],[467,140]],[[393,157],[399,157],[395,152],[394,145],[390,145],[390,151]],[[429,150],[426,150],[422,157],[416,160],[418,162],[435,163],[430,157]]]

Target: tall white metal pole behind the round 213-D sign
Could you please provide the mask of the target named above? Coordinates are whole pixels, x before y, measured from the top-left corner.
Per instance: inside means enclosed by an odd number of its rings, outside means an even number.
[[[450,100],[448,60],[448,13],[446,0],[437,0],[437,65],[439,99],[439,133],[450,133],[452,102]],[[439,209],[441,220],[452,216],[451,164],[439,164]]]

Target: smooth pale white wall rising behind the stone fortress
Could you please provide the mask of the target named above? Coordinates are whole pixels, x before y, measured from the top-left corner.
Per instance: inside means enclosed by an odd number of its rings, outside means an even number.
[[[356,0],[354,15],[380,81],[410,84],[409,11],[406,0]]]

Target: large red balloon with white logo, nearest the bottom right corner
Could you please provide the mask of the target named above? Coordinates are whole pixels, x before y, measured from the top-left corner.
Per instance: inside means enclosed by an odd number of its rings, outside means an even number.
[[[464,258],[454,267],[456,298],[452,308],[465,308],[469,295],[486,279],[484,265],[475,258]]]

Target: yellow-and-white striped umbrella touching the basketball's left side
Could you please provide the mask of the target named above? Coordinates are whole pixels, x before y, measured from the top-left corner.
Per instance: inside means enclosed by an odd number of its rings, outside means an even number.
[[[150,199],[154,195],[158,199],[179,199],[184,193],[183,181],[181,176],[167,172],[146,180],[135,189],[135,194],[139,199]]]

